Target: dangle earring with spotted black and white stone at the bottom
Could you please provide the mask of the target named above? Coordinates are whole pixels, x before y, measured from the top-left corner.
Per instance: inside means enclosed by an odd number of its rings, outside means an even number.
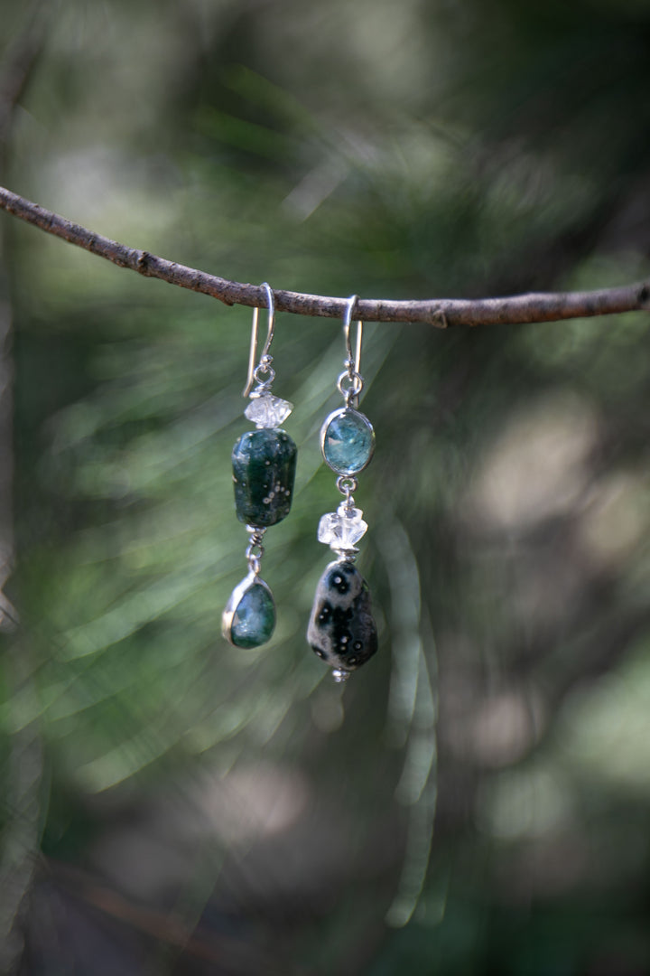
[[[357,344],[352,355],[350,322],[358,296],[348,300],[343,320],[347,358],[337,387],[345,406],[335,410],[321,429],[321,451],[325,464],[338,474],[336,487],[344,500],[336,511],[323,515],[319,542],[337,555],[321,577],[316,590],[307,640],[312,649],[334,669],[335,681],[346,681],[377,650],[377,628],[372,618],[370,591],[355,566],[357,543],[367,531],[363,511],[355,508],[353,492],[357,475],[370,464],[374,451],[374,430],[360,413],[363,390],[361,370],[363,322],[357,323]]]

